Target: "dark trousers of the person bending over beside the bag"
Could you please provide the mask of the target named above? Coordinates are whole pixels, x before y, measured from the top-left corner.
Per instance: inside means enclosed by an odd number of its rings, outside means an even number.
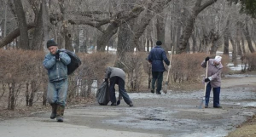
[[[115,88],[114,88],[115,84],[119,85],[119,94],[122,95],[122,97],[125,100],[125,103],[129,105],[131,103],[131,99],[130,99],[129,95],[127,94],[126,90],[125,90],[125,81],[121,77],[117,77],[117,76],[110,78],[110,86],[109,86],[110,101],[112,103],[116,102]]]

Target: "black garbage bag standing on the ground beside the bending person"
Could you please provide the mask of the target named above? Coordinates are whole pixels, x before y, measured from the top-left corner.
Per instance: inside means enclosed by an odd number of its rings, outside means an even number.
[[[110,101],[109,86],[107,82],[103,82],[96,92],[96,99],[101,106],[107,106]]]

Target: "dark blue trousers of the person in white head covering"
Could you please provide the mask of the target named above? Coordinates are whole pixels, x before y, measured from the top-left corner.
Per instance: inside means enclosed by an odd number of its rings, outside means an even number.
[[[209,104],[211,90],[213,89],[213,107],[219,106],[220,87],[212,88],[211,82],[207,83],[206,106]]]

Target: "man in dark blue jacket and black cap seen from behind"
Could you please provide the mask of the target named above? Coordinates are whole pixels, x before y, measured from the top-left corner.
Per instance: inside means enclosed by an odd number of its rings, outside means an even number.
[[[165,61],[168,68],[171,67],[170,61],[166,57],[165,50],[160,47],[161,44],[162,44],[161,41],[157,41],[154,49],[151,49],[150,53],[148,54],[148,62],[150,62],[152,65],[151,93],[153,94],[154,94],[154,84],[156,80],[157,80],[156,94],[161,94],[160,90],[162,89],[163,72],[166,71],[163,60]]]

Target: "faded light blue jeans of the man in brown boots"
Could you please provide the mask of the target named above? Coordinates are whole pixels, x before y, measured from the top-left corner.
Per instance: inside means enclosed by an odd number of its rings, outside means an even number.
[[[47,89],[47,100],[49,104],[56,103],[66,105],[68,80],[63,79],[57,82],[49,82]]]

